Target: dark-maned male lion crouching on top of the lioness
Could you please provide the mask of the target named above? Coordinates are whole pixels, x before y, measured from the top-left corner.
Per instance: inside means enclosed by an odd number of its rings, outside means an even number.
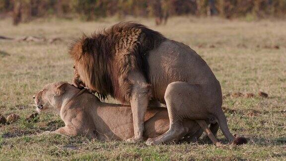
[[[230,142],[235,139],[221,109],[219,81],[189,46],[169,40],[142,24],[123,22],[91,37],[84,35],[71,46],[70,54],[74,60],[75,86],[86,86],[103,98],[111,95],[131,105],[134,137],[128,141],[143,139],[149,100],[166,104],[170,128],[148,144],[168,143],[183,135],[185,119],[217,121],[224,136]],[[165,95],[167,86],[170,91],[175,87],[179,91]],[[179,97],[182,102],[173,102]],[[182,104],[185,109],[176,111]]]

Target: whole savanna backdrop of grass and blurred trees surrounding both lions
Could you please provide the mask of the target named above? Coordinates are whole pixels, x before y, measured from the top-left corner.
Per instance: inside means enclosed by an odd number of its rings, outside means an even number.
[[[0,160],[286,160],[285,18],[286,0],[0,0],[0,115],[19,115],[0,123]],[[53,113],[25,118],[45,84],[71,82],[69,44],[123,20],[197,51],[221,83],[231,132],[248,144],[146,146],[39,135],[64,126]],[[227,143],[220,131],[217,138]]]

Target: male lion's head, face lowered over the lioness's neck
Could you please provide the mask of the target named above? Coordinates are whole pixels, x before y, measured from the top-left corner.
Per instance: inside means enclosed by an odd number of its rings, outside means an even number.
[[[109,62],[98,50],[99,43],[95,38],[85,35],[77,40],[71,47],[70,54],[74,60],[74,75],[72,84],[78,88],[87,87],[100,97],[113,96],[112,80],[109,74],[111,67],[104,62]],[[111,53],[111,52],[110,52]]]

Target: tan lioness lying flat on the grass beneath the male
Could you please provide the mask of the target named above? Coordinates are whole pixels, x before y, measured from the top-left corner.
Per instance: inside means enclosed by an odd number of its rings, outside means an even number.
[[[47,84],[34,96],[37,111],[58,113],[65,127],[54,133],[63,135],[87,135],[98,140],[124,140],[133,136],[132,111],[130,106],[101,102],[94,94],[78,89],[67,82]],[[205,121],[199,121],[215,145],[214,138]],[[195,141],[202,135],[199,124],[186,120],[183,126],[188,131],[185,140]],[[148,108],[144,117],[144,138],[153,138],[169,129],[166,108]],[[217,130],[217,129],[216,129]],[[182,137],[174,141],[181,140]]]

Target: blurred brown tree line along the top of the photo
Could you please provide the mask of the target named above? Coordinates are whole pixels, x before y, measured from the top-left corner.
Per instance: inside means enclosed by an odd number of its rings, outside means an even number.
[[[154,16],[156,24],[165,24],[169,16],[184,14],[285,17],[286,0],[0,0],[0,13],[13,13],[15,25],[34,17],[69,14],[83,20],[113,15]]]

